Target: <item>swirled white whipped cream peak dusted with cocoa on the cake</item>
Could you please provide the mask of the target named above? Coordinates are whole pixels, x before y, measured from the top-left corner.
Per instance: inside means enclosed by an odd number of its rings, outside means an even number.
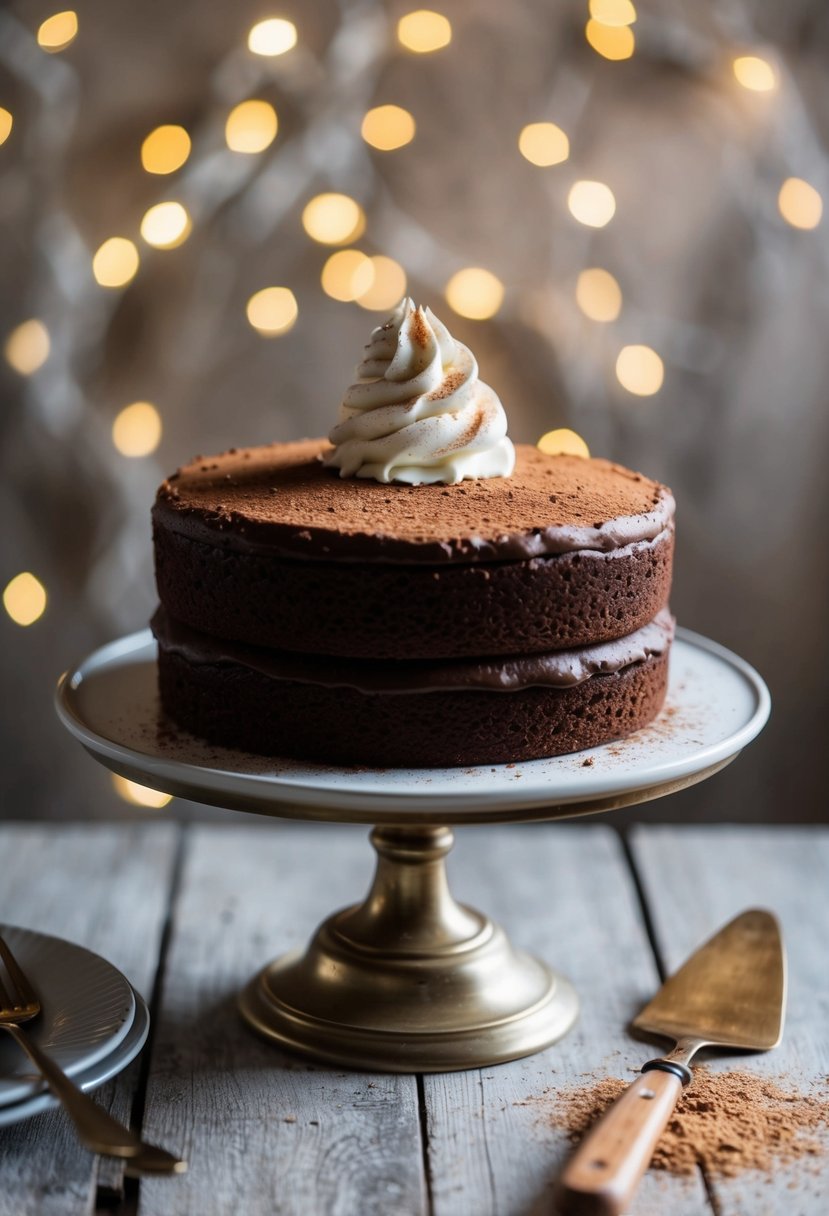
[[[340,477],[423,485],[509,477],[515,450],[473,353],[428,308],[401,300],[372,336],[328,435]]]

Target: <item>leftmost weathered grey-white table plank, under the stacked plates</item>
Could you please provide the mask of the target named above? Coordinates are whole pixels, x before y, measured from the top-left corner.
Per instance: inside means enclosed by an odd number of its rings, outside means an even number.
[[[0,824],[0,921],[77,941],[150,997],[168,906],[176,828],[169,823]],[[129,1120],[137,1063],[96,1099]],[[0,1130],[0,1216],[86,1216],[120,1166],[83,1149],[62,1111]]]

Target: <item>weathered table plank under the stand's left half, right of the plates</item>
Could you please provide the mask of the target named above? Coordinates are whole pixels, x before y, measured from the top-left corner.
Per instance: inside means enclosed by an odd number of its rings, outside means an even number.
[[[260,1041],[236,995],[365,895],[365,829],[202,828],[175,908],[145,1133],[190,1172],[142,1180],[140,1216],[406,1216],[424,1209],[416,1080],[312,1068]]]

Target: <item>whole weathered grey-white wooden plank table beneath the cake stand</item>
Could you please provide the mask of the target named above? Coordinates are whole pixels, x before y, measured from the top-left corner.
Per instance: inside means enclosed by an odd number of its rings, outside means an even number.
[[[783,921],[789,1014],[783,1047],[737,1066],[803,1087],[829,1075],[829,832],[641,827],[622,840],[599,821],[461,831],[455,894],[569,975],[581,1019],[513,1064],[388,1076],[288,1057],[235,1009],[264,961],[362,895],[365,831],[239,822],[0,824],[0,919],[98,951],[151,1002],[148,1048],[98,1097],[190,1160],[181,1178],[124,1181],[78,1147],[61,1111],[40,1115],[0,1130],[0,1216],[524,1216],[566,1153],[549,1118],[557,1087],[628,1079],[648,1048],[624,1028],[660,973],[751,905]],[[649,1175],[632,1211],[827,1210],[829,1171],[793,1169],[727,1182]]]

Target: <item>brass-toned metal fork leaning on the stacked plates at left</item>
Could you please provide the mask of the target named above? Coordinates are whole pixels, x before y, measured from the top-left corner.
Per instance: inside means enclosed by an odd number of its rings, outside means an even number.
[[[10,981],[6,987],[0,972],[0,1029],[9,1031],[49,1083],[74,1124],[81,1143],[92,1153],[124,1158],[128,1173],[184,1173],[186,1161],[154,1144],[146,1144],[129,1127],[123,1127],[23,1032],[21,1023],[38,1017],[40,1001],[2,938],[0,958],[6,964]]]

